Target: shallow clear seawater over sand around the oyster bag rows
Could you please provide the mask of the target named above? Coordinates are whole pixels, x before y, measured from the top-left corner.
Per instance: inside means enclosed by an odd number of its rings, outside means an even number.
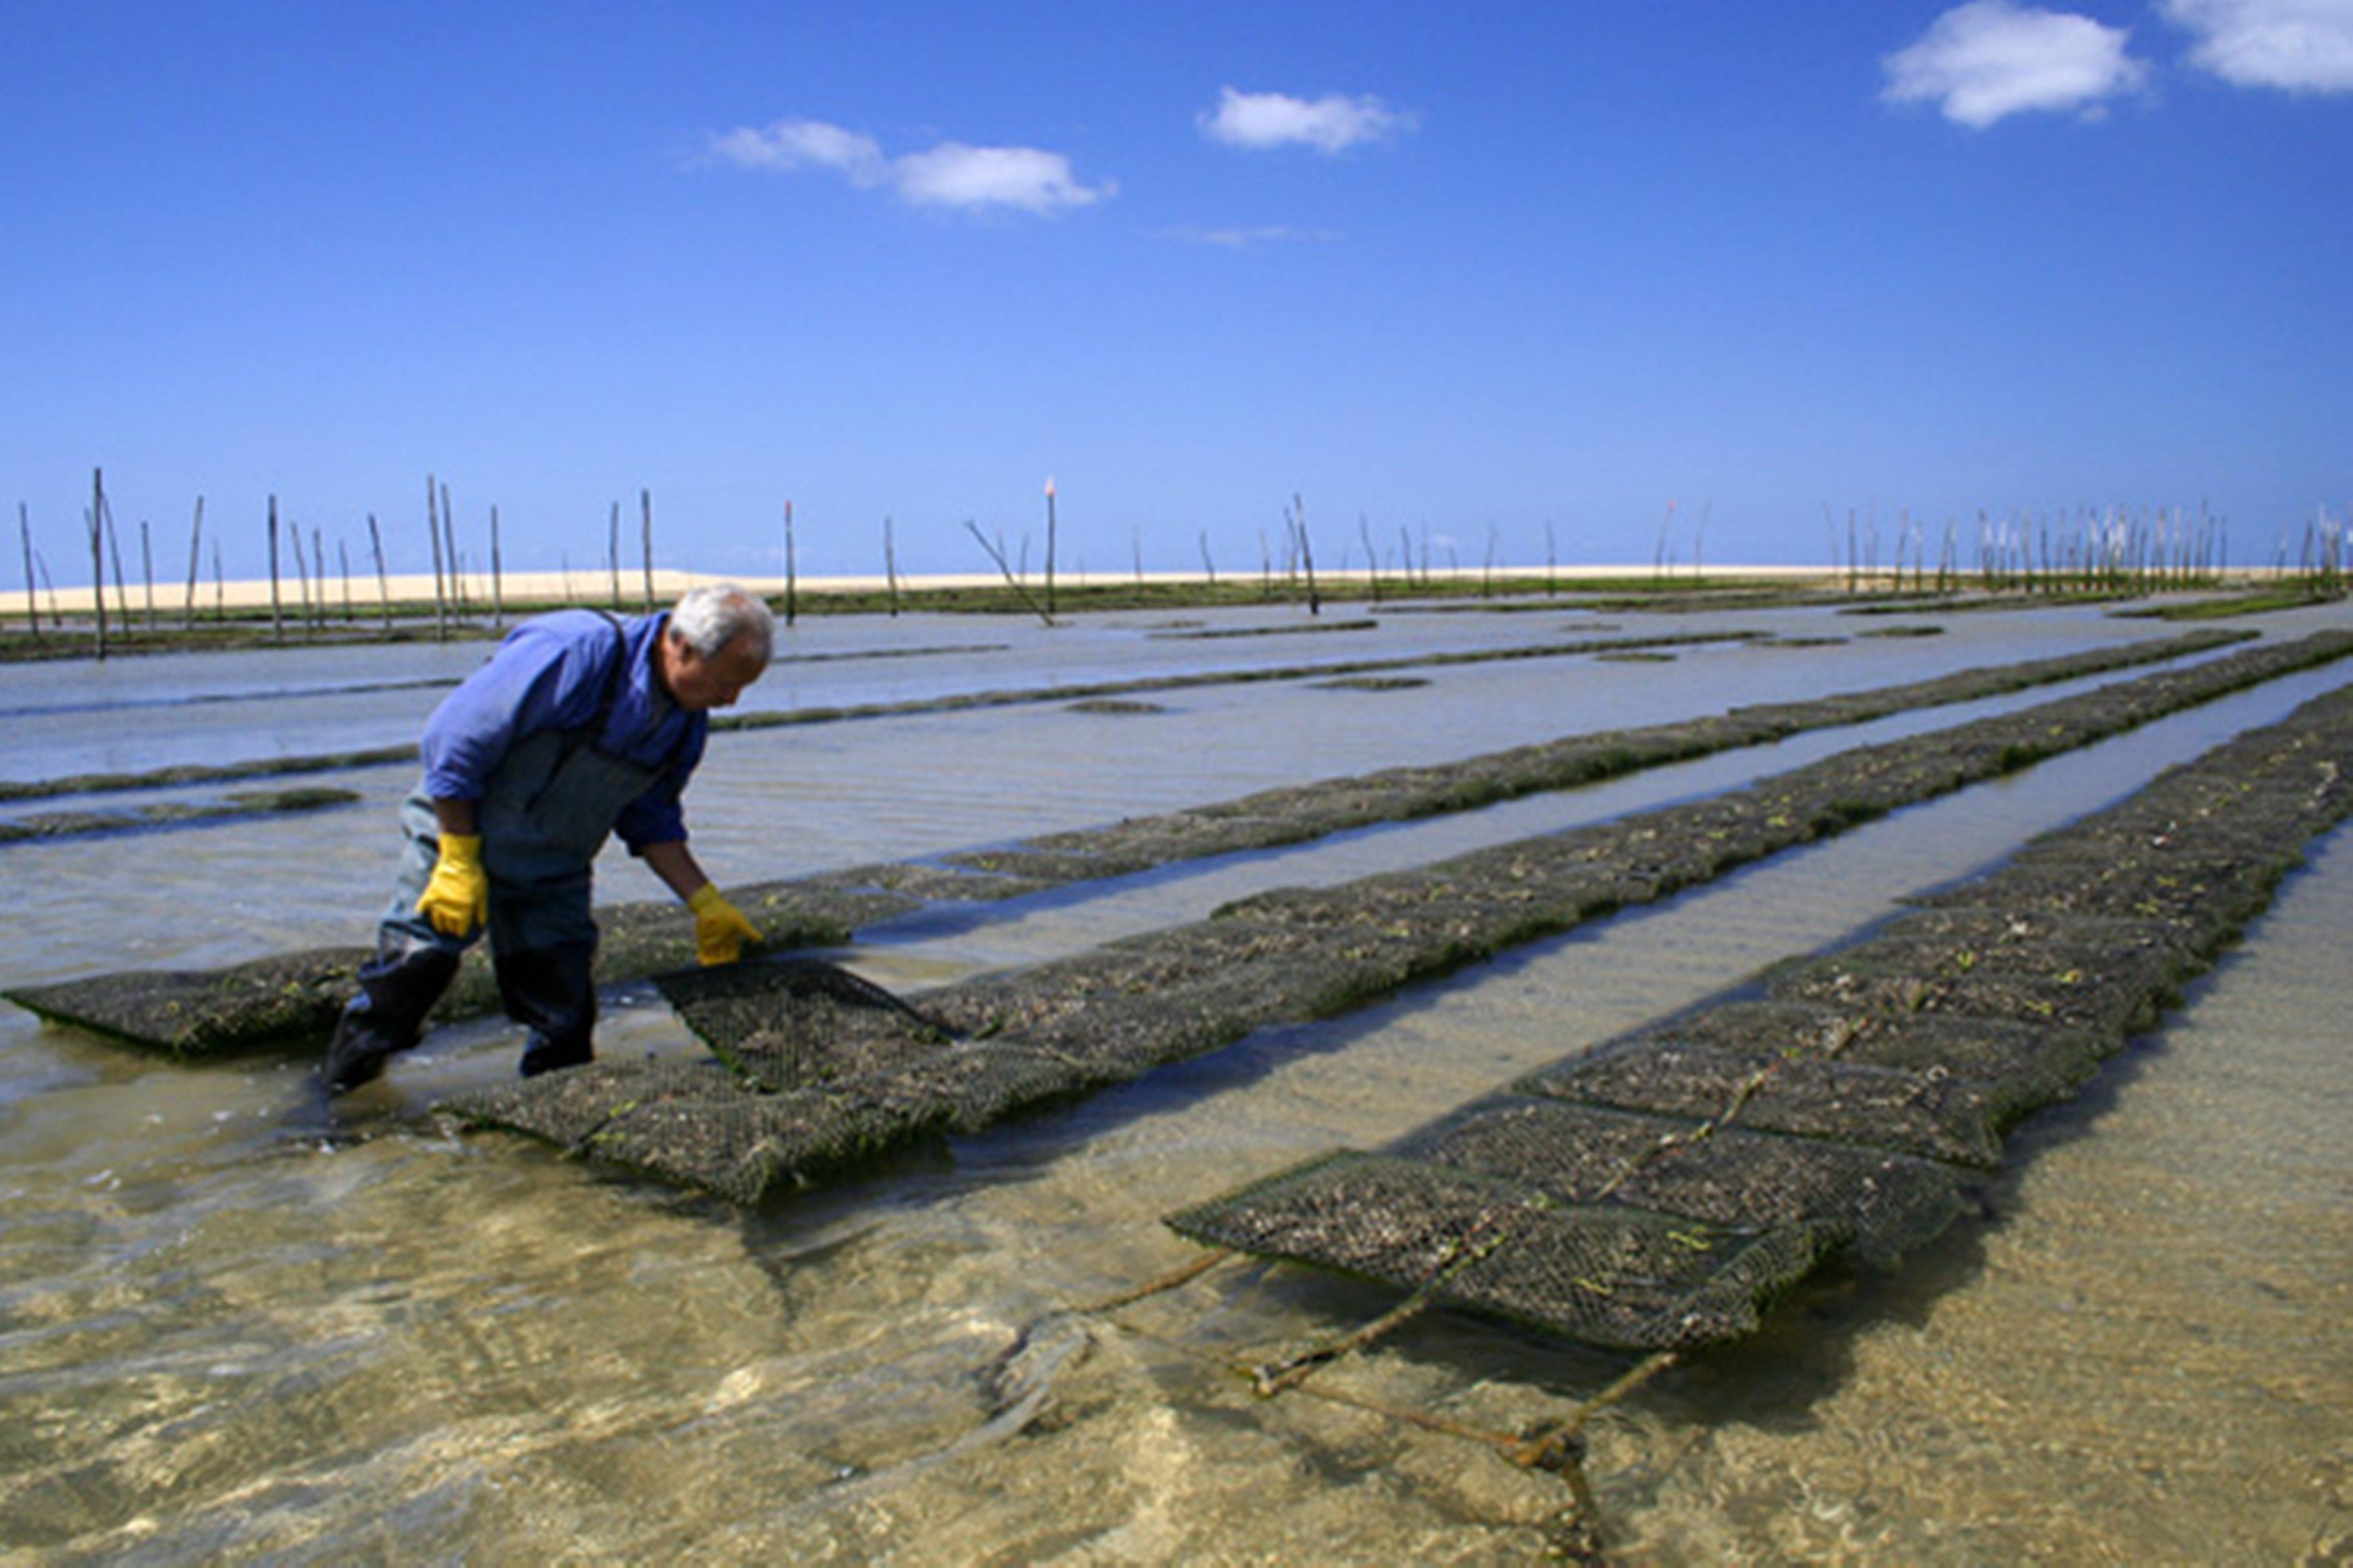
[[[1355,609],[1351,609],[1355,614]],[[1287,616],[1212,616],[1285,623]],[[809,623],[779,708],[1555,642],[1562,609],[1386,611],[1369,632],[1172,639],[1167,618]],[[1819,611],[1609,616],[1621,635],[1852,637]],[[1941,637],[1708,646],[1673,663],[1426,668],[720,736],[689,795],[727,882],[979,846],[1280,783],[1918,679],[2162,635],[2097,611],[1944,616]],[[2266,623],[2292,635],[2322,611]],[[1875,623],[1864,623],[1875,625]],[[1586,628],[1591,630],[1591,625]],[[1322,644],[1348,642],[1341,654]],[[925,654],[925,649],[941,649]],[[965,651],[951,651],[965,649]],[[972,651],[988,649],[988,651]],[[468,658],[478,658],[473,651]],[[54,712],[9,776],[407,738],[461,672],[433,649],[0,670]],[[1417,987],[1254,1037],[758,1213],[605,1175],[431,1103],[513,1072],[513,1030],[428,1041],[329,1121],[308,1063],[174,1067],[0,1016],[0,1554],[24,1561],[1506,1563],[1565,1486],[1367,1403],[1513,1432],[1631,1361],[1428,1316],[1259,1399],[1240,1366],[1346,1333],[1384,1291],[1226,1265],[1160,1215],[1374,1147],[1541,1063],[1732,987],[1998,860],[2346,670],[2273,682]],[[285,722],[285,691],[369,686]],[[762,684],[765,686],[765,684]],[[132,708],[139,693],[205,693]],[[240,691],[271,691],[242,701]],[[66,712],[82,703],[82,717]],[[2040,701],[2038,696],[2017,703]],[[2014,703],[2005,703],[2014,705]],[[275,719],[261,719],[271,710]],[[240,710],[245,719],[240,719]],[[141,712],[172,715],[144,729]],[[1958,722],[1908,715],[1506,809],[1125,879],[845,954],[908,990],[1198,919]],[[200,715],[200,717],[191,717]],[[12,729],[16,719],[9,719]],[[0,846],[0,983],[365,940],[405,769],[365,802],[240,825]],[[652,896],[624,856],[607,898]],[[2353,835],[2158,1032],[2009,1143],[1986,1213],[1885,1274],[1828,1274],[1755,1340],[1591,1429],[1617,1559],[2297,1561],[2353,1537],[2353,1154],[2341,952]],[[645,992],[605,1053],[694,1051]],[[1092,1309],[1089,1309],[1092,1307]]]

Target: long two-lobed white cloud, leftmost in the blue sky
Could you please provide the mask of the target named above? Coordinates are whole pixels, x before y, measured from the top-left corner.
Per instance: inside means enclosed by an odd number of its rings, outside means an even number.
[[[944,141],[927,153],[885,158],[873,136],[845,132],[824,120],[776,120],[711,136],[711,155],[739,169],[791,174],[831,169],[852,186],[889,186],[913,207],[1016,207],[1054,212],[1085,207],[1118,190],[1115,183],[1082,186],[1071,160],[1040,148],[974,148]]]

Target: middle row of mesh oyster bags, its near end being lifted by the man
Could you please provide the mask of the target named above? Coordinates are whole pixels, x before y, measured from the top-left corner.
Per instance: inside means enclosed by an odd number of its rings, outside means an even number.
[[[1412,980],[2346,654],[2346,635],[2259,646],[1840,752],[1685,806],[1337,889],[1245,898],[1207,922],[925,992],[915,1013],[847,987],[812,992],[807,969],[680,971],[664,976],[664,994],[718,1060],[593,1063],[461,1095],[447,1110],[748,1204],[1268,1025],[1353,1011]],[[1659,1232],[1642,1255],[1664,1258],[1659,1248],[1671,1246],[1680,1244]],[[1793,1234],[1777,1237],[1744,1265],[1748,1274],[1722,1286],[1725,1302],[1711,1307],[1718,1319],[1704,1321],[1732,1321],[1748,1284],[1753,1298],[1809,1262]]]

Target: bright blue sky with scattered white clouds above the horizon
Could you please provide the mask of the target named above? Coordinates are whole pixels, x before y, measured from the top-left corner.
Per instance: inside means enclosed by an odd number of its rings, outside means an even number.
[[[92,468],[165,578],[198,496],[421,569],[428,473],[741,574],[786,498],[802,571],[1035,564],[1047,475],[1094,571],[2353,503],[2353,0],[14,0],[0,143],[61,583]]]

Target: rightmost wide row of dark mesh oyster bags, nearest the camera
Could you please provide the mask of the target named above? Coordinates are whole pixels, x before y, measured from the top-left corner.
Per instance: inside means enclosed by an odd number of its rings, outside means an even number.
[[[2024,715],[1967,748],[2000,766],[2071,724]],[[1911,757],[1833,788],[1868,802],[1878,780],[1934,773]],[[1327,1157],[1169,1225],[1600,1345],[1746,1333],[1824,1253],[1894,1258],[1941,1229],[1962,1166],[1995,1164],[2009,1124],[2087,1081],[2344,820],[2348,773],[2339,689],[1769,971],[1765,1001],[1649,1025],[1381,1154]]]

